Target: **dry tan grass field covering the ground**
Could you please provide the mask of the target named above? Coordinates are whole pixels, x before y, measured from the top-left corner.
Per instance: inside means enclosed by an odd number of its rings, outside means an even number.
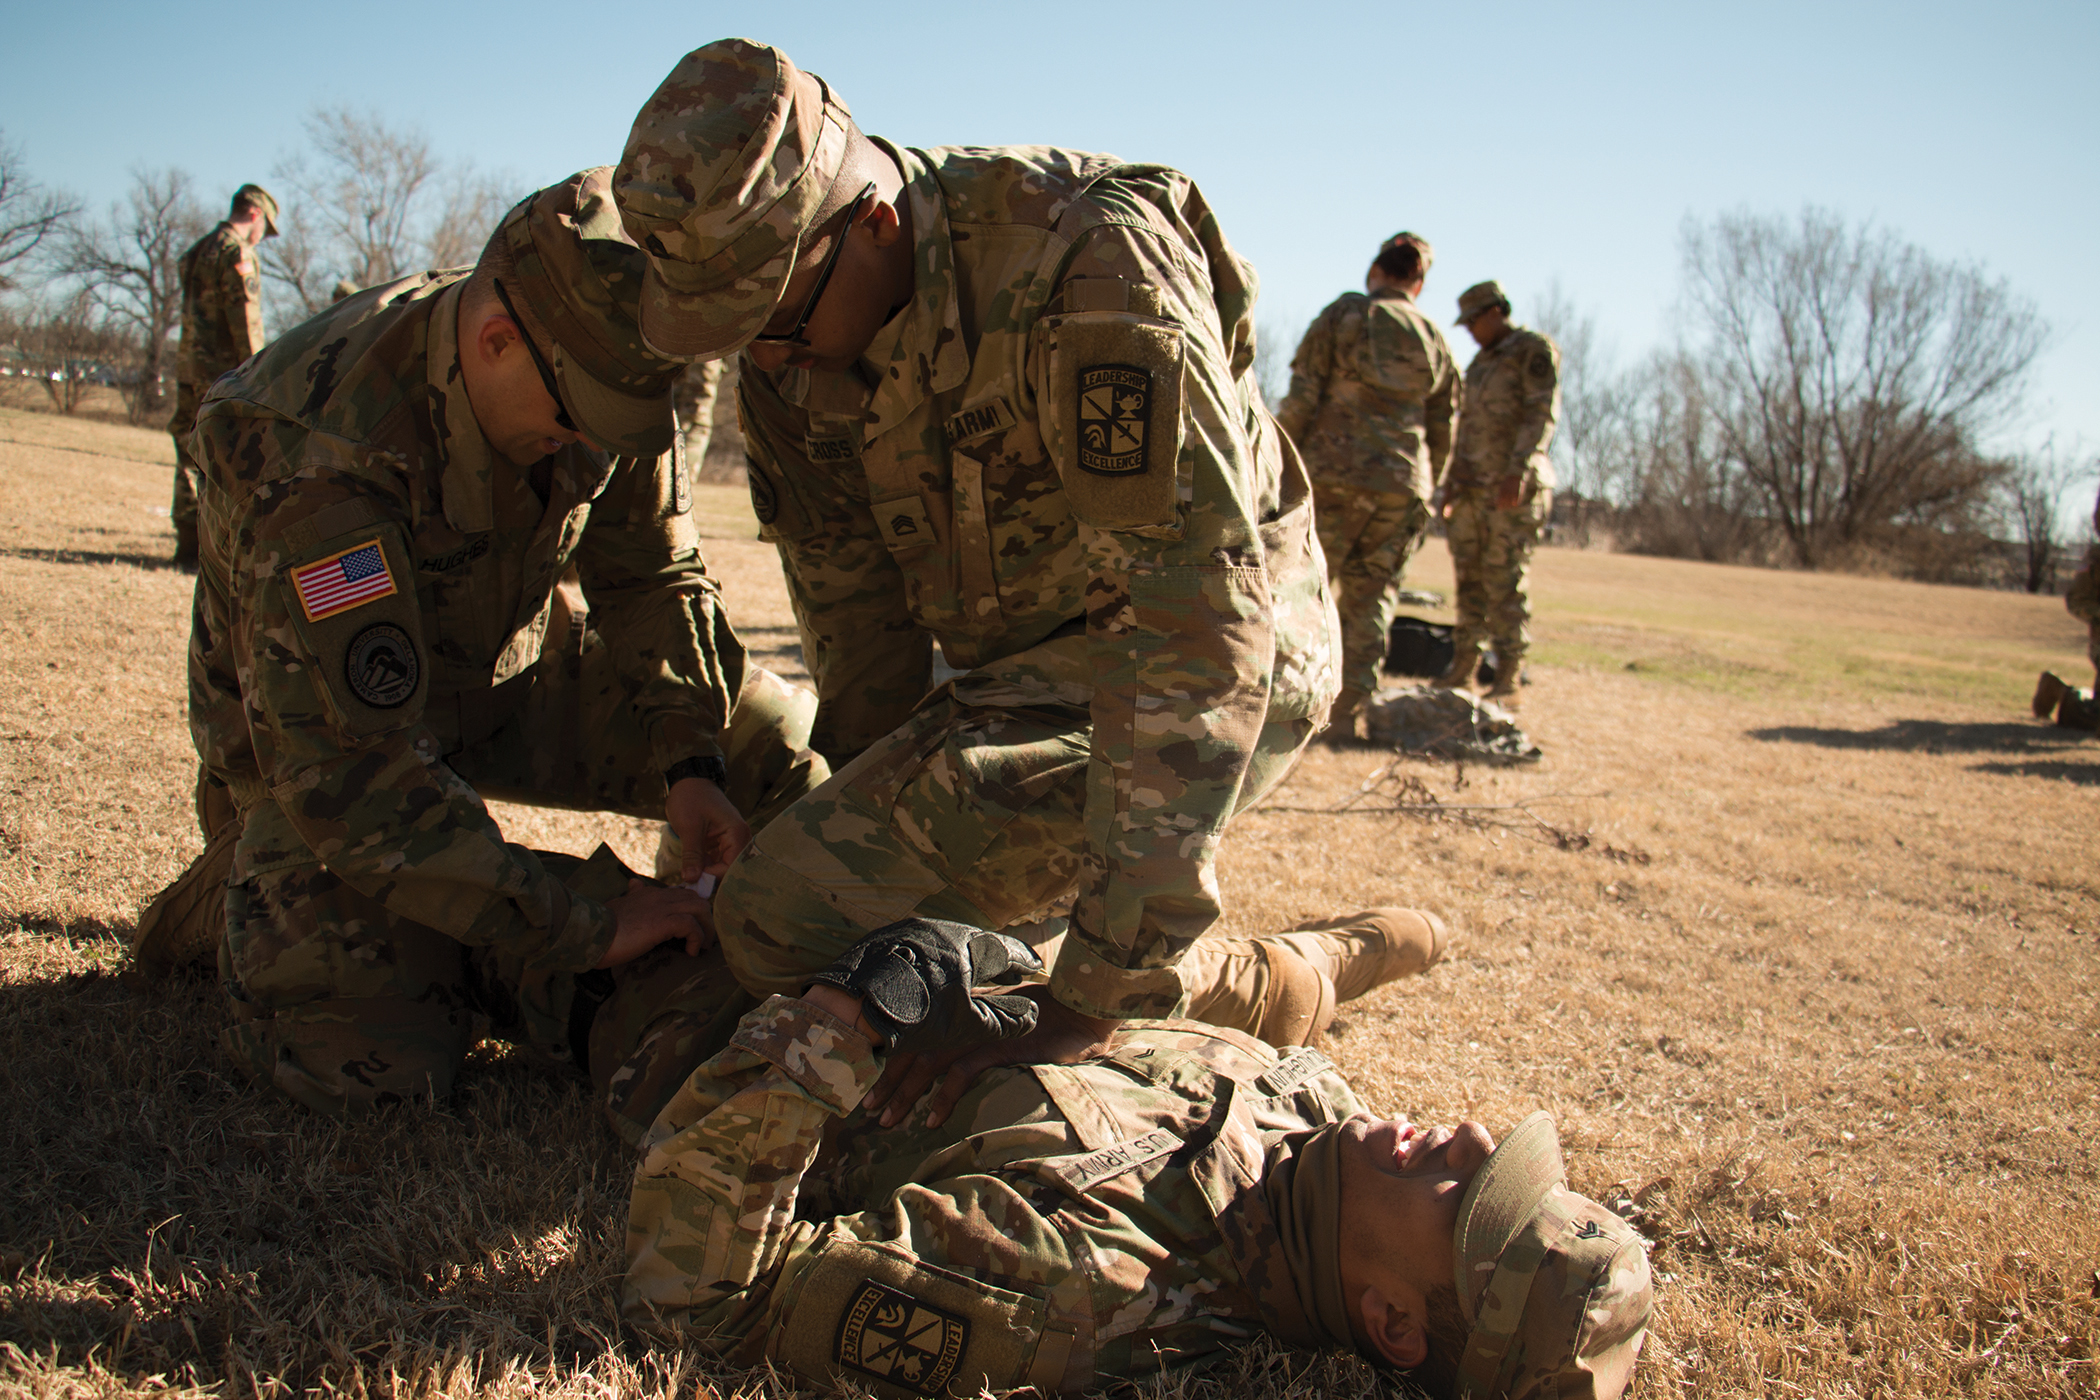
[[[212,984],[118,976],[197,850],[168,462],[0,409],[0,1392],[781,1394],[622,1331],[628,1163],[575,1085],[483,1047],[454,1106],[334,1127],[220,1060]],[[771,550],[735,491],[704,510],[792,672]],[[1438,546],[1415,581],[1447,588]],[[1546,760],[1315,749],[1233,829],[1226,930],[1453,921],[1329,1052],[1380,1110],[1558,1117],[1575,1184],[1655,1243],[1636,1394],[2100,1394],[2100,741],[2024,718],[2081,630],[2054,598],[1564,550],[1537,609]],[[1254,1348],[1144,1390],[1376,1381]]]

